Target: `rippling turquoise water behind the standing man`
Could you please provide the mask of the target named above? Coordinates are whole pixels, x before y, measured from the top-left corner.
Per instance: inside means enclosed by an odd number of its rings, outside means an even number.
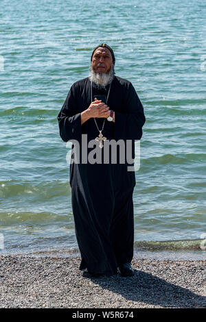
[[[133,82],[146,114],[136,242],[205,236],[205,18],[201,0],[1,1],[3,251],[76,247],[56,117],[101,42],[113,47],[116,75]]]

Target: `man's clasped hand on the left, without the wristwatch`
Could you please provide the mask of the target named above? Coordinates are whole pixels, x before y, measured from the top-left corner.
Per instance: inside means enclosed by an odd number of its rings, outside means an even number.
[[[98,101],[95,98],[95,101],[91,102],[89,108],[81,113],[81,123],[83,124],[91,117],[104,117],[107,118],[110,115],[110,110],[105,103]]]

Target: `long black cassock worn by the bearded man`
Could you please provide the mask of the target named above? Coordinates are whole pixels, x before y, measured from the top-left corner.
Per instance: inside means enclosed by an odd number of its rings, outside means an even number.
[[[93,83],[93,101],[95,95],[107,96],[108,88],[100,90]],[[88,142],[99,135],[93,118],[81,125],[81,112],[87,110],[90,103],[89,78],[74,83],[58,114],[62,140],[78,140],[81,147],[82,134],[87,134]],[[134,158],[135,140],[140,140],[146,119],[133,85],[115,76],[107,105],[115,111],[115,123],[105,119],[103,136],[107,140],[133,140]],[[102,129],[104,119],[95,120]],[[99,145],[97,141],[96,144]],[[87,150],[89,153],[92,149]],[[82,258],[80,270],[87,268],[90,272],[113,275],[119,264],[133,259],[135,172],[128,171],[127,162],[121,164],[118,160],[117,153],[117,164],[103,161],[102,164],[70,164],[71,203]]]

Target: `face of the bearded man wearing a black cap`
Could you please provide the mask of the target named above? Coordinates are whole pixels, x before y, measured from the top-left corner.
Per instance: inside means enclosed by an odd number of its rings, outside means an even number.
[[[95,73],[108,73],[111,70],[113,58],[111,52],[104,47],[99,47],[93,53],[91,66]]]

